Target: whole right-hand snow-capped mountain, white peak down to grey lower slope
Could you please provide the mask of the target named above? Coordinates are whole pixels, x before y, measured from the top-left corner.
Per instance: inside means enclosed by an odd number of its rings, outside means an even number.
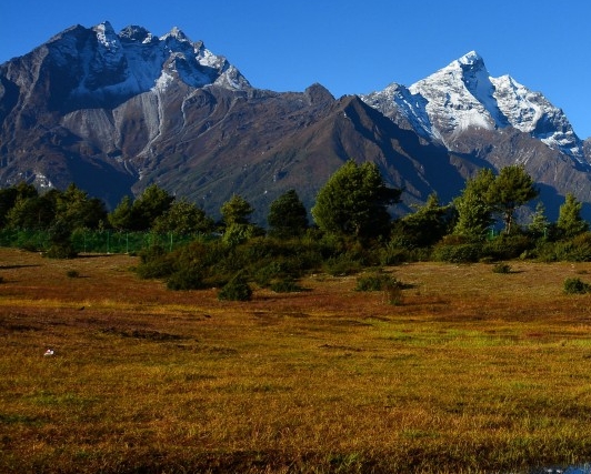
[[[474,51],[408,88],[392,83],[362,100],[452,155],[494,169],[523,164],[554,215],[568,192],[591,202],[589,143],[542,93],[491,77]]]

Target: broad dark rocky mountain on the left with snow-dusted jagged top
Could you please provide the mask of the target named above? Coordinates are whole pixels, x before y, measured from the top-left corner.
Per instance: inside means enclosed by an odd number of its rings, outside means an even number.
[[[111,206],[156,182],[212,215],[240,193],[264,223],[289,189],[310,208],[350,158],[378,162],[410,205],[435,190],[422,157],[448,160],[357,97],[335,100],[319,84],[254,89],[178,29],[156,38],[108,22],[72,27],[0,65],[0,182],[76,182]],[[455,174],[444,195],[461,186]]]

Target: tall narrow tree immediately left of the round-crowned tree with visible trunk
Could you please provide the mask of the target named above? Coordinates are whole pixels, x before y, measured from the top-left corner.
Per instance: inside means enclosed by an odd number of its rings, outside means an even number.
[[[493,208],[488,200],[488,192],[493,182],[494,173],[487,168],[465,182],[461,195],[453,201],[458,213],[454,234],[471,241],[481,241],[487,236],[494,223]]]

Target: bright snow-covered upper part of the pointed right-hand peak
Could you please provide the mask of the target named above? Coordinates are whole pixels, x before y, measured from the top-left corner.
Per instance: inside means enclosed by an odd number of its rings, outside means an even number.
[[[448,149],[469,131],[512,127],[589,165],[562,110],[510,75],[491,77],[475,51],[409,88],[393,83],[362,99]]]

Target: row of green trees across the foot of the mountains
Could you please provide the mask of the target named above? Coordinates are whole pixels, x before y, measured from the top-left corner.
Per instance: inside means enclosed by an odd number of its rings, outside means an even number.
[[[519,255],[543,260],[591,258],[591,253],[585,254],[587,244],[582,245],[591,241],[589,224],[581,218],[582,203],[572,194],[565,196],[557,222],[548,221],[539,202],[530,222],[515,223],[517,210],[539,195],[521,165],[503,168],[498,174],[482,169],[452,202],[441,204],[432,194],[414,212],[392,220],[389,209],[399,202],[401,193],[385,185],[374,163],[349,160],[318,192],[310,212],[312,225],[297,191],[290,190],[271,203],[268,228],[263,229],[250,222],[254,210],[240,195],[222,204],[221,220],[216,222],[194,203],[176,199],[157,184],[149,185],[137,199],[124,196],[108,212],[102,201],[76,184],[41,193],[31,184],[20,183],[0,190],[0,229],[48,231],[49,256],[62,258],[76,255],[71,235],[80,229],[213,234],[232,249],[254,239],[304,240],[324,245],[331,242],[335,250],[323,251],[329,259],[362,248],[379,253],[381,256],[373,260],[381,263]],[[502,231],[490,239],[493,229]]]

